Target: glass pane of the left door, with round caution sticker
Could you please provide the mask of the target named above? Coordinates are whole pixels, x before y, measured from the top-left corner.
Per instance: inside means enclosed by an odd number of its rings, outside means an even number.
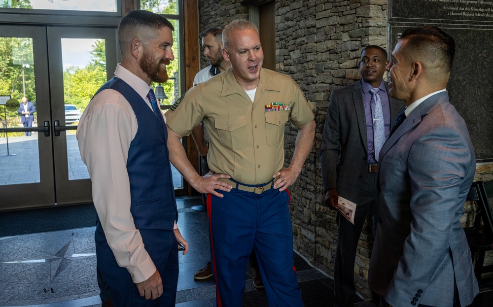
[[[33,38],[0,37],[0,96],[22,104],[26,97],[35,109],[35,65]],[[24,128],[16,109],[0,107],[0,127]],[[37,127],[37,114],[31,127]],[[30,136],[27,136],[30,135]],[[39,182],[39,152],[37,132],[0,134],[0,185]]]

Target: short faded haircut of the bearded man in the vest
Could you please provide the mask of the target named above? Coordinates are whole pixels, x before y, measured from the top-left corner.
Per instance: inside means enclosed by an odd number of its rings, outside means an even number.
[[[163,16],[152,13],[146,10],[134,10],[123,16],[118,27],[118,41],[120,43],[120,49],[125,43],[130,43],[132,40],[143,37],[149,38],[153,36],[153,33],[149,33],[148,30],[159,30],[161,28],[170,28],[171,31],[175,31],[175,27]]]

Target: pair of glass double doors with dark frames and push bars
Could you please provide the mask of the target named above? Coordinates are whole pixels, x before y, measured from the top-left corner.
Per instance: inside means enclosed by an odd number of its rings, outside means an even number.
[[[110,27],[0,27],[0,99],[19,102],[0,100],[0,211],[92,201],[75,129],[113,75],[116,45]]]

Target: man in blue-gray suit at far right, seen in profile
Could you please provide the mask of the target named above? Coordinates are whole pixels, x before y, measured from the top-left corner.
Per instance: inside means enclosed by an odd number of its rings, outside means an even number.
[[[380,152],[368,282],[393,307],[467,306],[479,292],[459,221],[476,160],[445,89],[454,53],[454,39],[440,29],[413,28],[387,66],[389,95],[406,102],[407,118]]]

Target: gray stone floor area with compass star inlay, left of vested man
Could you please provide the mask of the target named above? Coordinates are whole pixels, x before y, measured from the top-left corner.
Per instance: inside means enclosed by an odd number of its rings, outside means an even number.
[[[0,306],[99,298],[94,230],[0,238]]]

